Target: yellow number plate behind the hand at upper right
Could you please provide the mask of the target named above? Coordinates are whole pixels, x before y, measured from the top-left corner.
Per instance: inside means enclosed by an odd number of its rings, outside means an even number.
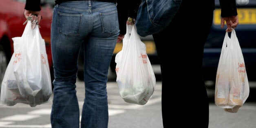
[[[239,24],[256,24],[256,9],[237,9]],[[214,10],[214,25],[221,25],[221,9]]]

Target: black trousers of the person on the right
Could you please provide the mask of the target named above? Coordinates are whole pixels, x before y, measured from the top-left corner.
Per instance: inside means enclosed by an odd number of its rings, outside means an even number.
[[[169,26],[153,35],[161,66],[164,128],[208,128],[201,66],[213,10],[212,0],[183,0]]]

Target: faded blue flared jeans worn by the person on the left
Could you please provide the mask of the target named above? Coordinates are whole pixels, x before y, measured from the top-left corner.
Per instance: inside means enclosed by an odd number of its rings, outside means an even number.
[[[108,127],[106,83],[118,35],[115,3],[89,0],[55,5],[51,26],[55,77],[52,128],[79,128],[75,83],[81,46],[85,84],[81,128]]]

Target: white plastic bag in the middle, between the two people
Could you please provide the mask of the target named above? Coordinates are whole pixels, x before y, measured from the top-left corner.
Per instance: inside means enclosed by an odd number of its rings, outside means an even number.
[[[132,27],[129,33],[129,27]],[[152,97],[156,78],[135,25],[126,26],[123,48],[115,57],[119,94],[125,102],[144,105]]]

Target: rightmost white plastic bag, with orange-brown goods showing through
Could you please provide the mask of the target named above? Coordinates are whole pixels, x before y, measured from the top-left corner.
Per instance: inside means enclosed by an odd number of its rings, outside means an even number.
[[[225,111],[236,113],[249,96],[249,82],[243,53],[232,29],[226,32],[218,63],[215,85],[215,104]]]

